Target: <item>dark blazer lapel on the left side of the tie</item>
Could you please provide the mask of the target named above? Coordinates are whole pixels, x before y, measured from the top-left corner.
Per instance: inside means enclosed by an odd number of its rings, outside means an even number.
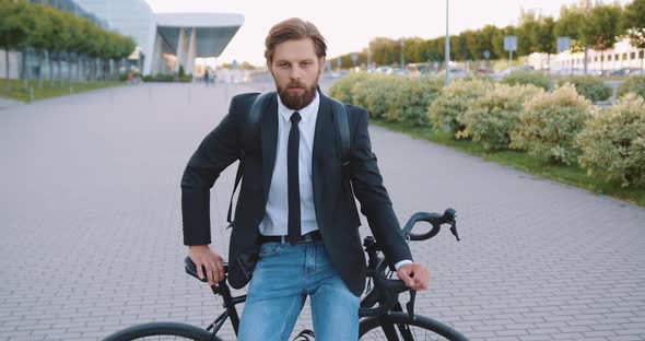
[[[275,165],[275,146],[278,145],[278,99],[272,96],[260,119],[260,141],[262,143],[262,184],[265,200],[269,198],[271,176]]]

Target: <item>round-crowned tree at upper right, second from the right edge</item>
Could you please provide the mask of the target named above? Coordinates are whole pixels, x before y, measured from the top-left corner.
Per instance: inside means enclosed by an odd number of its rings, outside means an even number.
[[[619,26],[622,10],[619,4],[600,4],[589,11],[583,21],[583,39],[593,49],[602,51],[600,70],[603,70],[605,50],[612,48],[621,34]]]

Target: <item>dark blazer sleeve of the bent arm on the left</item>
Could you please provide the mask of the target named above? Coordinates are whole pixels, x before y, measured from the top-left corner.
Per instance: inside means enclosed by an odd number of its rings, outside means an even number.
[[[211,243],[210,189],[228,165],[239,158],[235,98],[228,114],[201,141],[181,177],[181,220],[185,245]]]

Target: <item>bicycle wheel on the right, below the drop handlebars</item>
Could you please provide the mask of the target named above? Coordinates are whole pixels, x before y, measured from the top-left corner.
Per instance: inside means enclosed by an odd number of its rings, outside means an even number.
[[[361,340],[468,341],[465,336],[437,320],[419,315],[412,320],[408,313],[363,319],[359,334]]]

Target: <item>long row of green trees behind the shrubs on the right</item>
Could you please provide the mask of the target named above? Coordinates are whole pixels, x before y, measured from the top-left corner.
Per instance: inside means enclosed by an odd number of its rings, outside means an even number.
[[[517,36],[515,56],[555,54],[556,39],[561,36],[572,39],[573,51],[583,50],[585,46],[596,50],[610,49],[623,36],[629,36],[634,47],[645,49],[645,0],[634,0],[624,8],[618,3],[597,2],[588,9],[580,0],[578,4],[562,7],[558,20],[523,11],[518,26],[486,25],[452,35],[450,60],[483,60],[486,50],[490,59],[504,58],[508,56],[504,50],[504,37],[509,35]],[[439,61],[444,59],[445,42],[445,36],[434,39],[377,37],[370,42],[368,48],[357,52],[356,63],[366,63],[370,52],[371,61],[376,64],[395,64],[401,60],[401,50],[406,62]],[[338,57],[342,66],[352,64],[351,55]]]

